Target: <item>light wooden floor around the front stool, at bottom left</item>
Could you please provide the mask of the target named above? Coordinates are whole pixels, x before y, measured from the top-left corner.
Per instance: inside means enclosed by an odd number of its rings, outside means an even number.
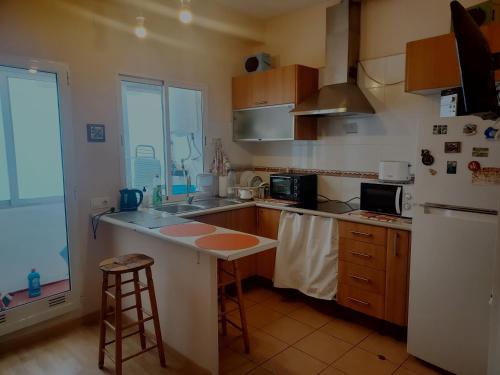
[[[137,336],[126,339],[124,353],[140,350]],[[8,350],[0,348],[1,375],[80,375],[114,374],[114,364],[106,358],[104,369],[97,368],[97,324],[82,325],[31,343]],[[113,350],[112,347],[110,347]],[[2,354],[3,352],[3,354]],[[124,374],[200,374],[200,370],[167,350],[167,368],[160,367],[157,351],[145,353],[123,365]]]

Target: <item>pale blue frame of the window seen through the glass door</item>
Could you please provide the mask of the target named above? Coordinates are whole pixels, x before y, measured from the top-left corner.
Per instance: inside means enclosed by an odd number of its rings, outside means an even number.
[[[14,121],[11,112],[11,97],[9,91],[9,78],[21,78],[21,79],[32,79],[33,81],[46,81],[53,82],[49,75],[55,76],[55,84],[57,89],[57,105],[58,112],[61,112],[61,103],[59,96],[61,95],[60,90],[60,73],[52,71],[39,70],[37,73],[30,77],[29,75],[23,74],[21,72],[16,72],[17,69],[26,69],[18,66],[8,66],[7,64],[0,64],[1,67],[7,69],[12,69],[12,72],[2,72],[0,71],[0,107],[2,112],[3,120],[3,131],[4,131],[4,141],[5,141],[5,156],[7,160],[7,176],[9,179],[9,199],[0,201],[0,209],[2,208],[16,208],[25,207],[33,205],[43,205],[50,203],[61,203],[64,202],[64,192],[62,195],[54,195],[50,197],[39,197],[39,198],[20,198],[19,197],[19,183],[18,183],[18,171],[17,171],[17,158],[15,150],[15,138],[14,138]],[[37,77],[38,79],[35,79]],[[60,115],[61,117],[61,115]],[[61,118],[59,118],[59,131],[61,130]],[[63,158],[62,153],[62,134],[61,134],[61,163]],[[64,175],[64,168],[61,165],[61,172]],[[63,176],[64,180],[64,176]],[[63,181],[64,185],[64,181]]]

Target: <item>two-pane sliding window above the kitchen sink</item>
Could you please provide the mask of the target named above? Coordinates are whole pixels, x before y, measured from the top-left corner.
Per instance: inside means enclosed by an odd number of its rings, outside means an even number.
[[[158,176],[168,196],[196,192],[204,165],[202,91],[169,86],[165,96],[163,82],[129,77],[121,88],[127,186],[148,188]]]

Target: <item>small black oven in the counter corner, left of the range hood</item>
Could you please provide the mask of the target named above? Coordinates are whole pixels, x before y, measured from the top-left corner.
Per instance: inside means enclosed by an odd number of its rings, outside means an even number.
[[[315,174],[272,174],[270,180],[271,198],[303,203],[316,202],[318,176]]]

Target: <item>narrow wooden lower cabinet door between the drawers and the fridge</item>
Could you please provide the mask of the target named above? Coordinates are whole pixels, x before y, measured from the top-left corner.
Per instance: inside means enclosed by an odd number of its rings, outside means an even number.
[[[410,237],[405,230],[387,231],[385,320],[400,326],[408,320]]]

